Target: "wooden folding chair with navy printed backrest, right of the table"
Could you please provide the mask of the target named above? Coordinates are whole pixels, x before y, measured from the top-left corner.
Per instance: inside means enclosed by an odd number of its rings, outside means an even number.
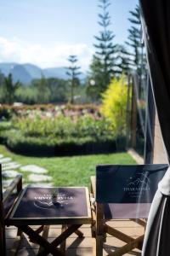
[[[145,226],[151,201],[157,184],[167,171],[167,165],[104,165],[96,166],[96,177],[91,177],[93,235],[96,237],[96,256],[103,255],[106,234],[125,242],[122,247],[114,245],[108,256],[120,256],[141,250],[144,234],[133,238],[111,227],[110,220],[130,219]]]

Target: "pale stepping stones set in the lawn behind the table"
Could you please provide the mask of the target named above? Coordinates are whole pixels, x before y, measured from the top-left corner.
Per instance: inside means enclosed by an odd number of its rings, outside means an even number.
[[[3,189],[13,181],[19,173],[27,177],[27,181],[35,186],[52,186],[52,177],[48,176],[48,170],[36,165],[21,166],[20,163],[13,161],[10,157],[0,154],[0,163],[2,164]],[[25,183],[24,183],[25,185]]]

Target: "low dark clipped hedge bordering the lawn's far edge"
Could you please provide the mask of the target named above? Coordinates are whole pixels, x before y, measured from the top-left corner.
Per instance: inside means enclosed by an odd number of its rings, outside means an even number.
[[[48,137],[23,137],[19,132],[6,131],[0,136],[0,143],[17,154],[30,156],[71,156],[80,154],[104,154],[123,151],[125,137],[69,138],[57,140]]]

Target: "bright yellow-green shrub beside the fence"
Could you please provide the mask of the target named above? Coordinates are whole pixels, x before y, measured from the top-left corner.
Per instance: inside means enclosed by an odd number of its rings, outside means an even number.
[[[116,137],[126,133],[127,83],[122,75],[112,79],[108,89],[102,94],[101,113],[109,122]]]

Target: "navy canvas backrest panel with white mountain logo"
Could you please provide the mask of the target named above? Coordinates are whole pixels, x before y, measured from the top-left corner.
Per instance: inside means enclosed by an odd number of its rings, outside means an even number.
[[[96,166],[96,201],[150,203],[167,165]]]

